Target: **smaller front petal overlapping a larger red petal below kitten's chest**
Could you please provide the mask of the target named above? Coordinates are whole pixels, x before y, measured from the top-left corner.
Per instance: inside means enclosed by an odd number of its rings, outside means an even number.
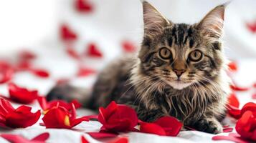
[[[140,131],[149,134],[158,134],[161,136],[166,136],[166,132],[163,129],[163,127],[155,123],[141,123]]]

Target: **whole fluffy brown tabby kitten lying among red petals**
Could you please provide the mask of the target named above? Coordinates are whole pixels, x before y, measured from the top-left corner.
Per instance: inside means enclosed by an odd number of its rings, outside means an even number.
[[[229,79],[222,49],[224,5],[196,24],[174,24],[143,1],[144,37],[138,56],[116,59],[99,74],[93,92],[59,85],[47,99],[84,99],[98,109],[111,101],[152,122],[171,115],[185,126],[217,134],[225,114]],[[69,97],[72,95],[72,97]]]

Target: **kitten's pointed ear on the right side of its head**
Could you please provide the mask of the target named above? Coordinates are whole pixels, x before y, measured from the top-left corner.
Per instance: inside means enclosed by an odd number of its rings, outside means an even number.
[[[224,11],[227,4],[216,6],[212,11],[204,16],[204,19],[199,22],[199,29],[203,36],[218,40],[222,37],[224,26]]]

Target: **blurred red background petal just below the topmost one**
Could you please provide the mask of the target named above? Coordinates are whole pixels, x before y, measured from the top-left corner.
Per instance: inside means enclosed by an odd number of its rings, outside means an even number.
[[[60,26],[60,37],[63,41],[74,41],[77,39],[77,34],[69,26],[63,24]]]

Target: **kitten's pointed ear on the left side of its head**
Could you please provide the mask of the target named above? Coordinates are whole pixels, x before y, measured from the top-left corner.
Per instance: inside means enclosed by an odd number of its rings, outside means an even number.
[[[143,1],[143,21],[144,33],[150,35],[161,32],[164,26],[170,24],[158,10],[147,1]]]

